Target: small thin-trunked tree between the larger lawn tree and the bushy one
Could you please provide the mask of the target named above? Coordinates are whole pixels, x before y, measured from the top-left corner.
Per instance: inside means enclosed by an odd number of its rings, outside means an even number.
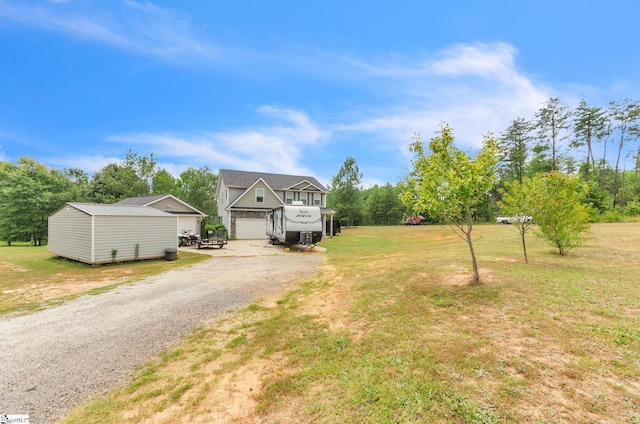
[[[502,214],[516,218],[513,225],[520,235],[522,251],[524,252],[524,262],[528,264],[529,257],[527,255],[526,235],[533,226],[533,220],[528,219],[528,217],[533,216],[534,209],[534,205],[532,204],[533,180],[525,177],[520,182],[505,182],[505,188],[500,191],[502,193],[502,200],[499,202],[499,205]]]

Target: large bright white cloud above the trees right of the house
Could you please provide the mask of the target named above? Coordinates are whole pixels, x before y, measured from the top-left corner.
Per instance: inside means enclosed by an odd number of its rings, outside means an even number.
[[[517,69],[515,54],[505,43],[456,45],[416,66],[404,59],[379,68],[359,64],[383,81],[383,89],[396,90],[394,103],[334,130],[379,134],[406,151],[413,131],[428,139],[446,121],[458,143],[479,147],[483,134],[530,118],[549,97],[548,88]]]

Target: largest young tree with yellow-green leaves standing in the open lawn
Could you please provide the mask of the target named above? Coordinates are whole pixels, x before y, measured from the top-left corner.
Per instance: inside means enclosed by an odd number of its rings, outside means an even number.
[[[480,283],[478,263],[473,249],[474,208],[489,194],[495,182],[497,143],[486,135],[480,152],[471,159],[454,145],[453,131],[444,125],[429,142],[428,154],[416,134],[410,147],[415,154],[412,170],[404,182],[403,203],[426,211],[453,228],[469,246],[473,283]]]

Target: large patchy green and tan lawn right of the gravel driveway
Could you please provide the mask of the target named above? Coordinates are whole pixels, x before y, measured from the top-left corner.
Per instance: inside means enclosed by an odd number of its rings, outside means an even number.
[[[322,241],[320,273],[197,328],[64,422],[639,423],[640,224],[558,256],[448,227]]]

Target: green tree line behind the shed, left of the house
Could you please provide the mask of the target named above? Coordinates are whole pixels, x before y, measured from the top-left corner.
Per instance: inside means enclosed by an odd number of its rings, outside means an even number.
[[[122,162],[110,163],[92,177],[77,168],[48,168],[28,157],[0,162],[0,240],[42,245],[48,217],[66,202],[109,204],[155,194],[173,194],[207,214],[205,224],[213,224],[217,180],[206,165],[174,178],[158,166],[153,153],[146,157],[131,149]]]

